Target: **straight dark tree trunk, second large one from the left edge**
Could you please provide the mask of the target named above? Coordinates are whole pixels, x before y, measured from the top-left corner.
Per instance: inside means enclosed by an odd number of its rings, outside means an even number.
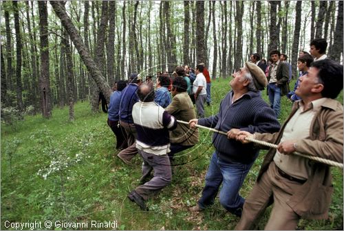
[[[14,12],[14,29],[16,32],[16,56],[17,56],[17,65],[16,65],[16,92],[17,92],[17,106],[19,111],[23,111],[23,86],[21,84],[21,49],[23,46],[21,44],[21,30],[19,24],[19,9],[18,9],[18,1],[12,1],[13,4],[13,12]]]

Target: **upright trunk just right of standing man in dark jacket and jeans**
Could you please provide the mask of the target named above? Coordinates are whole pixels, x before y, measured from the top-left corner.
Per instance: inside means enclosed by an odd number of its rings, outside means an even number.
[[[297,1],[296,6],[296,18],[295,18],[295,29],[294,29],[294,40],[292,42],[292,75],[297,77],[297,57],[299,56],[299,37],[301,28],[301,4],[302,1]]]

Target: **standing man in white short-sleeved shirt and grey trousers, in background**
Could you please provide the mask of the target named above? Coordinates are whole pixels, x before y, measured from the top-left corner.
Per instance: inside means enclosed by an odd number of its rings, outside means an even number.
[[[206,101],[206,77],[203,75],[204,66],[196,66],[196,79],[193,82],[193,95],[195,97],[197,115],[204,118],[204,101]]]

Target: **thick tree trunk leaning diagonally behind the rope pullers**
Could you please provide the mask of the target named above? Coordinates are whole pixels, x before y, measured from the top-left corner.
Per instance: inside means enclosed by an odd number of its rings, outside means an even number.
[[[78,50],[78,53],[80,54],[83,62],[85,63],[85,66],[87,67],[87,71],[89,71],[92,78],[95,80],[97,86],[103,92],[107,101],[109,101],[110,95],[111,95],[110,86],[109,84],[107,84],[107,82],[105,81],[105,78],[103,77],[102,73],[98,69],[98,66],[89,55],[89,52],[87,51],[83,43],[83,39],[81,38],[80,34],[78,34],[78,31],[76,30],[71,19],[65,12],[63,6],[61,5],[61,2],[50,1],[50,4],[52,5],[52,8],[54,9],[54,12],[58,16],[58,18],[61,19],[63,27],[65,27],[65,29],[67,30],[67,33],[72,39],[74,46]]]

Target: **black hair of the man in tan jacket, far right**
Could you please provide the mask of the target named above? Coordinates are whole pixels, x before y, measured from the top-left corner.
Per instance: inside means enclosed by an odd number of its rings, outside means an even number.
[[[325,59],[312,62],[310,66],[319,70],[318,77],[324,86],[321,95],[336,99],[343,90],[343,65],[334,60]]]

